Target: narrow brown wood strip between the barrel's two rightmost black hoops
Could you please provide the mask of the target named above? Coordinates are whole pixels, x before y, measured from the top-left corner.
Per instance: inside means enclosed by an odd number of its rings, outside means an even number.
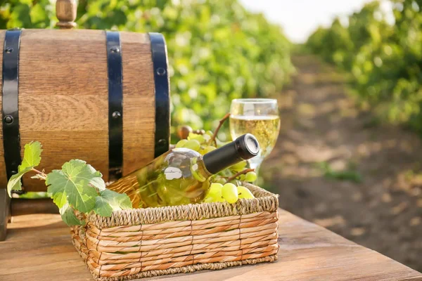
[[[120,32],[123,65],[123,174],[154,159],[155,84],[148,34]]]

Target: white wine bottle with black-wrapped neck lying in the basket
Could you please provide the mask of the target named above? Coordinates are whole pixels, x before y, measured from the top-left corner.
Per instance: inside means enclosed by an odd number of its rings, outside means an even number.
[[[205,155],[188,148],[174,148],[143,168],[120,178],[108,189],[126,193],[136,207],[162,207],[201,202],[210,177],[260,152],[250,133]]]

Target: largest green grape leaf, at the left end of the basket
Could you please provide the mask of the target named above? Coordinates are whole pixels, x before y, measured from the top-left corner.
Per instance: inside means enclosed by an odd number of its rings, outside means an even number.
[[[63,164],[61,170],[53,170],[47,175],[48,192],[54,198],[56,193],[65,193],[69,204],[78,211],[87,213],[94,208],[98,193],[89,183],[94,178],[101,177],[87,162],[79,159]]]

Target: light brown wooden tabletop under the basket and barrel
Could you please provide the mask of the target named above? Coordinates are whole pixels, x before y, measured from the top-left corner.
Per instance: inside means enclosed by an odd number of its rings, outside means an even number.
[[[0,280],[93,280],[53,214],[17,216],[0,242]],[[422,274],[376,251],[280,210],[279,260],[256,266],[143,280],[407,280]],[[392,245],[394,247],[394,245]]]

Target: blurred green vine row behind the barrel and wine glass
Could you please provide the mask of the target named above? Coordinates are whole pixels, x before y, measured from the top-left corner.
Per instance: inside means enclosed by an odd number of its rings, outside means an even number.
[[[0,6],[1,28],[55,23],[49,0],[12,0]],[[79,0],[77,23],[84,29],[165,35],[174,127],[211,129],[229,112],[231,99],[271,96],[293,69],[290,44],[280,27],[245,11],[238,1]]]

